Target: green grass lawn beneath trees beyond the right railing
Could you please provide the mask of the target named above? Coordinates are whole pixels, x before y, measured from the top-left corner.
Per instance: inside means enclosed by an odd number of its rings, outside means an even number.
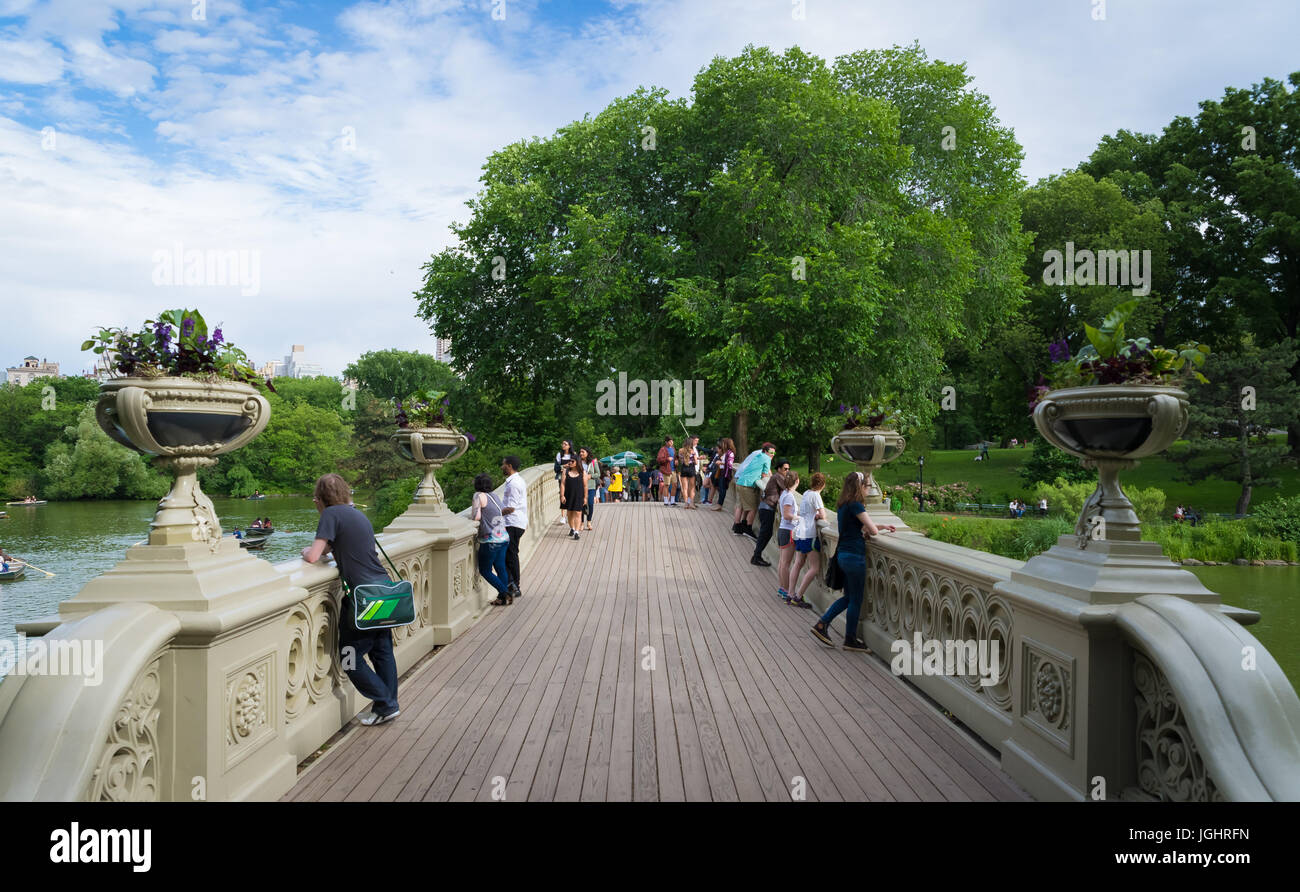
[[[1178,449],[1175,443],[1174,449]],[[1020,464],[1027,462],[1032,450],[1026,449],[991,449],[988,459],[975,460],[975,450],[932,450],[926,454],[926,485],[952,484],[965,481],[972,486],[979,486],[982,498],[985,502],[1006,503],[1013,498],[1028,501],[1031,488],[1020,481]],[[790,467],[800,472],[801,480],[807,480],[807,462],[805,459],[790,460]],[[826,454],[822,456],[822,471],[828,475],[842,477],[853,466],[841,458]],[[1141,463],[1132,471],[1119,475],[1119,481],[1126,486],[1148,488],[1157,486],[1165,492],[1166,507],[1173,515],[1175,505],[1190,505],[1201,511],[1213,514],[1231,514],[1236,508],[1236,499],[1242,494],[1240,484],[1228,480],[1204,480],[1197,484],[1179,482],[1174,480],[1178,469],[1173,462],[1164,455],[1154,455],[1141,459]],[[1279,473],[1280,486],[1256,486],[1252,493],[1251,505],[1257,506],[1279,495],[1292,495],[1300,493],[1300,469],[1283,468]],[[916,480],[916,456],[904,453],[901,458],[884,466],[876,475],[876,480],[889,488]],[[801,485],[800,489],[805,489]]]

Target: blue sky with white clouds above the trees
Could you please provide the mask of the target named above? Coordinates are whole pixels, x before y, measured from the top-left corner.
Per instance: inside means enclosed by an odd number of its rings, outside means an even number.
[[[1300,69],[1296,4],[1098,4],[0,0],[0,360],[74,372],[96,326],[182,304],[259,363],[432,351],[411,293],[488,153],[641,85],[689,96],[748,43],[965,61],[1030,181]],[[160,283],[177,246],[255,257],[256,287]]]

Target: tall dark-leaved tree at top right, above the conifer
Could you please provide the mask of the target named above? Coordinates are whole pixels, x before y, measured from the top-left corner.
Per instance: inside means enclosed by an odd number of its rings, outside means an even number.
[[[1290,85],[1290,88],[1288,88]],[[1173,274],[1166,341],[1217,350],[1300,338],[1300,72],[1228,87],[1160,137],[1119,131],[1083,165],[1165,207]],[[1300,382],[1300,361],[1288,369]],[[1284,419],[1300,455],[1300,415]]]

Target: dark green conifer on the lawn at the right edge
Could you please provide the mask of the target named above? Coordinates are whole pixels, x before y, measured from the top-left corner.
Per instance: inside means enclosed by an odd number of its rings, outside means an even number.
[[[1300,386],[1290,374],[1296,361],[1292,341],[1260,347],[1251,339],[1206,360],[1209,384],[1195,384],[1188,394],[1188,449],[1170,453],[1182,480],[1240,481],[1236,514],[1249,511],[1256,486],[1279,485],[1278,468],[1295,459],[1269,430],[1300,416]]]

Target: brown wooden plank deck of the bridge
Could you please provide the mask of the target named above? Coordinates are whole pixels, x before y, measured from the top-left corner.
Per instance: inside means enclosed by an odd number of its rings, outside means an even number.
[[[594,520],[577,542],[551,524],[525,597],[403,679],[402,715],[354,722],[285,798],[789,801],[796,778],[823,801],[1027,798],[884,662],[818,644],[729,512]]]

